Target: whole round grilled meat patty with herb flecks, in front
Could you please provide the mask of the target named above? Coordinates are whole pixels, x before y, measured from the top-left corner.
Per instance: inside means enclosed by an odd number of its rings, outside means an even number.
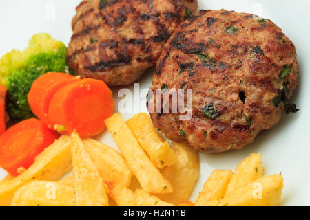
[[[180,120],[181,113],[171,109],[151,117],[169,139],[198,151],[240,149],[275,126],[284,110],[298,111],[290,103],[297,84],[296,49],[272,21],[202,10],[182,23],[165,45],[151,87],[166,89],[163,93],[192,89],[192,118]]]

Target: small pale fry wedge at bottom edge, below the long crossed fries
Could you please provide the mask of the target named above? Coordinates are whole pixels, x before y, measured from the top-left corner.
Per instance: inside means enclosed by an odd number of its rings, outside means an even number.
[[[138,206],[174,206],[143,190],[136,190],[134,197]]]

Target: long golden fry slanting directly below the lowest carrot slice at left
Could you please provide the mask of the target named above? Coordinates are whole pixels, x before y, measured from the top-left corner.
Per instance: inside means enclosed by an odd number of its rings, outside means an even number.
[[[56,181],[72,170],[70,146],[70,137],[63,135],[45,148],[21,175],[0,181],[0,206],[9,206],[14,192],[29,181]]]

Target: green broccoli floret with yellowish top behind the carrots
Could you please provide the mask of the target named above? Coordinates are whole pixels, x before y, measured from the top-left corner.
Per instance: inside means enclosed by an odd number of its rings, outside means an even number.
[[[49,34],[32,37],[23,52],[12,50],[0,60],[0,83],[8,88],[6,109],[15,122],[34,117],[27,95],[32,83],[46,72],[73,74],[66,64],[67,48]]]

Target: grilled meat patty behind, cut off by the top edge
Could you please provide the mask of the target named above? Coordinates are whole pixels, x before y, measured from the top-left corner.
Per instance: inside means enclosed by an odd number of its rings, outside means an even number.
[[[130,85],[196,10],[197,0],[84,0],[72,20],[68,65],[110,87]]]

